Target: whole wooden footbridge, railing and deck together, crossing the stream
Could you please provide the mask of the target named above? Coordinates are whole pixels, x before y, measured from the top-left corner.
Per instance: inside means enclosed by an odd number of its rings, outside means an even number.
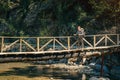
[[[86,35],[78,46],[78,36],[60,37],[0,37],[0,56],[4,55],[62,55],[85,53],[84,57],[119,51],[120,34]],[[72,54],[74,55],[74,54]],[[74,56],[78,56],[74,55]],[[52,56],[54,57],[54,56]],[[65,56],[64,56],[65,57]],[[70,56],[69,56],[70,57]],[[63,58],[60,57],[60,58]]]

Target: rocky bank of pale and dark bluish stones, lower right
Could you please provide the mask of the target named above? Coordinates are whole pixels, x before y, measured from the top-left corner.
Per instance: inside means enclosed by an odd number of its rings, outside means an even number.
[[[68,72],[75,72],[77,75],[86,75],[87,80],[120,80],[120,55],[119,53],[104,56],[103,73],[101,75],[101,57],[88,58],[84,65],[78,63],[68,64],[66,59],[59,61],[48,60],[39,64],[50,64],[50,68],[63,69]],[[62,64],[61,64],[62,63]],[[64,63],[64,64],[63,64]],[[78,75],[78,76],[79,76]],[[82,78],[82,76],[81,76]]]

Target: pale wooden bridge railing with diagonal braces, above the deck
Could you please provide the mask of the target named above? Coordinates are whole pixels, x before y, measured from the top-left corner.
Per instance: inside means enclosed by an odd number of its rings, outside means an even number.
[[[120,45],[120,34],[85,35],[81,46],[78,36],[0,37],[1,53],[45,52],[74,49],[95,49]]]

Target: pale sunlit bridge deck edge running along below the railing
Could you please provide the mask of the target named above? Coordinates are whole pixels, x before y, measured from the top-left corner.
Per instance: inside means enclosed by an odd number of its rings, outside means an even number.
[[[71,49],[71,50],[57,50],[57,51],[39,51],[39,52],[2,52],[0,55],[9,55],[9,54],[47,54],[47,53],[69,53],[69,52],[83,52],[83,51],[89,51],[89,50],[103,50],[103,49],[110,49],[120,47],[120,45],[114,45],[114,46],[103,46],[103,47],[87,47],[87,48],[79,48],[79,49]]]

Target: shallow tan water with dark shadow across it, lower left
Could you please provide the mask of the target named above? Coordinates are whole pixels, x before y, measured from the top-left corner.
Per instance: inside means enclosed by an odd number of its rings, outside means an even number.
[[[81,80],[75,71],[24,62],[0,63],[0,80]]]

